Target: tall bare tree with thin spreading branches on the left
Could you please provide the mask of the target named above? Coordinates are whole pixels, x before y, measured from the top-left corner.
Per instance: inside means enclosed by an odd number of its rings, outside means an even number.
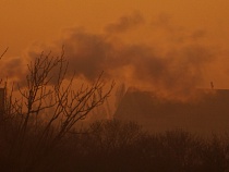
[[[67,79],[68,62],[64,59],[64,49],[60,57],[41,53],[27,69],[26,86],[17,87],[21,98],[12,101],[11,97],[10,100],[10,113],[19,121],[17,136],[11,155],[13,159],[20,160],[23,153],[28,151],[28,145],[33,145],[39,150],[36,151],[39,156],[35,156],[33,160],[34,165],[35,161],[57,146],[80,120],[106,101],[114,83],[106,90],[101,73],[92,85],[82,85],[75,90],[75,76]],[[36,135],[35,140],[29,140],[31,134]]]

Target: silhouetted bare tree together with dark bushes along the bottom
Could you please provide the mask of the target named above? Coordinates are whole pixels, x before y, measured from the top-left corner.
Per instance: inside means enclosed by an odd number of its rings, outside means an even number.
[[[147,133],[134,122],[104,120],[75,127],[103,105],[113,87],[104,90],[101,76],[73,91],[64,82],[63,59],[41,54],[28,65],[21,99],[8,95],[0,122],[0,171],[60,172],[227,172],[229,136],[201,137],[182,130]],[[50,86],[50,72],[59,77]],[[123,93],[124,88],[120,88]],[[50,110],[44,113],[45,110]]]

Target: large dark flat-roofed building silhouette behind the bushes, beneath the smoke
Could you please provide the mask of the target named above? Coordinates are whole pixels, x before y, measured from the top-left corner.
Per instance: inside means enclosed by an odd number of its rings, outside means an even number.
[[[152,132],[183,128],[195,133],[229,131],[229,89],[198,89],[194,101],[173,101],[153,93],[129,89],[114,114]]]

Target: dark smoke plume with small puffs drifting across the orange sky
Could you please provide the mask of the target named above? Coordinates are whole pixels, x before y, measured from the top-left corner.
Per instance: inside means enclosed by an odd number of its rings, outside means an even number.
[[[122,41],[121,38],[119,40],[110,38],[112,33],[134,29],[143,21],[140,14],[123,16],[118,23],[109,24],[106,32],[100,35],[72,28],[63,39],[52,46],[41,47],[40,50],[49,52],[51,49],[53,53],[60,52],[63,44],[69,61],[68,70],[74,71],[76,76],[83,76],[87,81],[95,79],[101,71],[105,71],[106,78],[124,82],[128,86],[140,86],[167,97],[176,94],[189,95],[203,82],[205,66],[214,59],[212,51],[192,41],[160,51],[156,45],[133,44]],[[167,17],[160,16],[159,22],[154,25],[167,27],[171,33],[176,32]],[[197,30],[188,35],[196,39],[204,34]],[[29,60],[39,53],[40,51],[31,49]]]

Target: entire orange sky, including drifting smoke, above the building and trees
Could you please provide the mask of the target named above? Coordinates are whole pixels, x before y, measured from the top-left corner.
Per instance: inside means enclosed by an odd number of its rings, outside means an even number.
[[[1,77],[24,76],[41,50],[70,70],[159,93],[229,88],[228,0],[1,0]]]

